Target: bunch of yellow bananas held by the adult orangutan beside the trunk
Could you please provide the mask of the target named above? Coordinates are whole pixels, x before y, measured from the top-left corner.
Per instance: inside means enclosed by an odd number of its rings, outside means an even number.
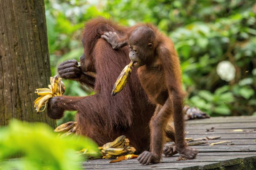
[[[48,87],[49,88],[35,89],[35,93],[40,96],[34,101],[34,107],[36,108],[35,110],[37,112],[42,112],[45,110],[49,98],[54,96],[62,96],[62,94],[65,92],[65,85],[61,81],[59,75],[50,77],[50,85],[48,85]],[[44,109],[40,110],[42,107],[44,107]]]

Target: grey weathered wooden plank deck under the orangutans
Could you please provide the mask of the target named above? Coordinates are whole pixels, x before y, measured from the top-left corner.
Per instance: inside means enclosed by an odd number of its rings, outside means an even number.
[[[215,127],[213,132],[206,129]],[[238,132],[234,130],[240,130]],[[241,131],[242,130],[242,131]],[[138,169],[220,169],[256,170],[256,116],[211,117],[210,119],[189,120],[187,138],[221,136],[207,140],[208,144],[191,146],[199,153],[195,159],[176,161],[178,155],[163,157],[162,163],[141,165],[136,159],[109,163],[109,159],[96,159],[83,162],[83,169],[138,170]],[[209,146],[212,142],[229,140],[232,143]],[[168,143],[167,143],[168,144]]]

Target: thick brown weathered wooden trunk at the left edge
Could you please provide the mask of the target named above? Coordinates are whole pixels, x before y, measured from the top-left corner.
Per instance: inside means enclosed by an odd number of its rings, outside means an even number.
[[[36,88],[50,83],[44,0],[0,0],[0,125],[11,119],[55,126],[36,113]]]

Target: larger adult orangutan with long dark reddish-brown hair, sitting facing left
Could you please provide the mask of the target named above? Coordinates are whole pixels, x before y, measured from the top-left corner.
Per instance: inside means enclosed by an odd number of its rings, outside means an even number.
[[[92,138],[99,146],[126,135],[131,145],[142,152],[149,150],[148,124],[155,105],[148,102],[135,69],[123,91],[111,96],[114,82],[130,62],[129,48],[113,50],[108,42],[100,38],[106,31],[116,31],[122,36],[126,29],[103,18],[93,19],[86,24],[82,38],[85,58],[82,56],[82,61],[80,59],[82,73],[75,70],[77,62],[74,60],[61,63],[59,73],[61,76],[68,75],[62,76],[64,78],[90,86],[96,94],[87,97],[53,97],[49,100],[48,116],[60,119],[64,110],[78,111],[76,121],[79,134]],[[94,80],[84,72],[96,72],[97,78]]]

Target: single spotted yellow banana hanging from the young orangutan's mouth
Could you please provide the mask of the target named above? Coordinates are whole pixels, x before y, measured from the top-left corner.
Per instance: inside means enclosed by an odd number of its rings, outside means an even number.
[[[121,92],[121,90],[123,90],[124,86],[126,85],[130,77],[130,74],[132,73],[132,65],[133,61],[131,61],[127,66],[125,66],[123,71],[118,76],[111,93],[112,96],[116,95],[117,93]]]

